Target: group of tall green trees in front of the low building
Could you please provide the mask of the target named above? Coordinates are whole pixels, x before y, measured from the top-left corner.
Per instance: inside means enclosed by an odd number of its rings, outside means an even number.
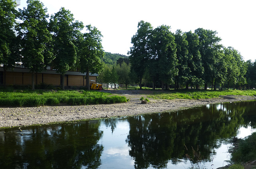
[[[15,9],[16,2],[0,1],[0,64],[6,70],[22,63],[34,74],[51,66],[62,76],[67,71],[98,73],[103,69],[104,56],[101,32],[87,25],[86,33],[82,22],[73,14],[61,8],[49,17],[47,9],[39,0],[27,0],[27,8]],[[22,22],[16,23],[15,19]],[[89,76],[86,76],[90,89]],[[64,78],[62,78],[64,89]]]

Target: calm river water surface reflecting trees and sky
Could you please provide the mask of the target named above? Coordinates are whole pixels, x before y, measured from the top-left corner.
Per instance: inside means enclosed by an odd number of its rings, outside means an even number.
[[[187,169],[198,162],[215,169],[228,164],[230,140],[252,132],[255,101],[3,129],[0,169]],[[202,161],[192,149],[198,149]]]

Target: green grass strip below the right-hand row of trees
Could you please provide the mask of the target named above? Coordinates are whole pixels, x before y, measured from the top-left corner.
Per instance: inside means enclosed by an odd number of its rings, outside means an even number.
[[[226,95],[256,96],[256,90],[166,90],[166,92],[157,91],[149,95],[153,99],[204,99],[218,98]]]

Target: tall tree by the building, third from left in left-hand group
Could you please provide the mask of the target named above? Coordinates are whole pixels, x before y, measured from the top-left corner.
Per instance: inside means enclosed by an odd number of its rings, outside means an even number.
[[[73,14],[63,7],[51,16],[50,30],[53,35],[55,56],[52,66],[62,76],[62,90],[64,90],[64,75],[75,66],[78,60],[78,41],[82,37],[80,30],[83,28],[83,23],[75,21]]]

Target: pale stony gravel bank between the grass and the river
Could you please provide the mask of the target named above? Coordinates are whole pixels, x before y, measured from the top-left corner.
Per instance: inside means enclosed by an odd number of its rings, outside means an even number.
[[[134,116],[138,114],[175,111],[184,108],[214,104],[220,102],[236,102],[253,100],[252,96],[220,96],[214,99],[197,100],[153,100],[141,104],[140,97],[146,98],[150,90],[105,90],[126,96],[130,102],[119,104],[99,104],[86,106],[41,106],[24,108],[0,108],[0,128],[14,126],[41,125],[56,122],[72,122],[85,119]]]

